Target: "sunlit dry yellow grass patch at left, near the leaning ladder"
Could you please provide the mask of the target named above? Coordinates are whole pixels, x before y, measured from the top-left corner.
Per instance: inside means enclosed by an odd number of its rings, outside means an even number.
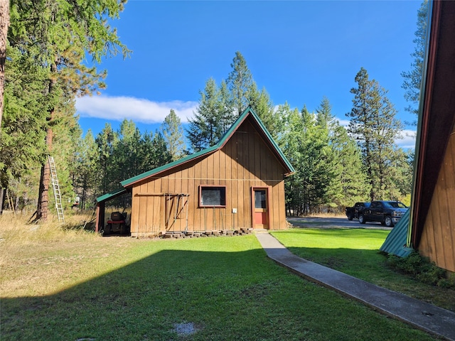
[[[86,281],[109,268],[109,257],[122,254],[131,244],[129,238],[113,240],[85,231],[84,218],[28,224],[23,216],[0,217],[2,296],[42,296]]]

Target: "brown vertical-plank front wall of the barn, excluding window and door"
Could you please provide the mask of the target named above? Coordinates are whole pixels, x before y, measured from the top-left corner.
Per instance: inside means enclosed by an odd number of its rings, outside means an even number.
[[[224,185],[226,207],[198,207],[200,185]],[[132,189],[132,235],[252,227],[252,187],[269,191],[269,229],[285,229],[284,168],[248,120],[227,144]],[[188,195],[186,197],[164,193]],[[232,209],[237,208],[237,213]]]

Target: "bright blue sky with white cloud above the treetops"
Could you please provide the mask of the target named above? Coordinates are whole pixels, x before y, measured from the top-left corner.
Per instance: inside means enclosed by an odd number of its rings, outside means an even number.
[[[144,1],[129,0],[112,22],[129,58],[106,58],[107,89],[77,99],[84,133],[132,119],[155,131],[174,109],[186,123],[199,91],[228,77],[235,52],[275,105],[314,111],[323,96],[346,123],[365,67],[388,90],[402,121],[407,102],[401,72],[410,70],[421,1]],[[405,133],[414,130],[407,126]],[[406,135],[406,134],[405,134]],[[397,141],[413,146],[413,138]]]

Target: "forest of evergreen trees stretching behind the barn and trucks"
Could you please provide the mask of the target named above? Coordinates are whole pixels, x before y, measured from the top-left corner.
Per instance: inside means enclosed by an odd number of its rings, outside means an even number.
[[[0,140],[3,207],[47,218],[44,211],[54,207],[53,195],[46,193],[52,191],[50,155],[65,207],[78,198],[80,208],[92,209],[96,197],[119,188],[120,181],[213,146],[247,106],[296,169],[285,182],[289,213],[341,212],[363,200],[409,202],[412,151],[395,144],[402,124],[387,90],[363,67],[353,75],[356,86],[346,89],[353,101],[347,127],[339,124],[326,97],[314,112],[304,105],[274,105],[237,52],[225,80],[205,82],[188,125],[171,109],[153,132],[124,120],[117,131],[106,124],[96,136],[82,135],[75,98],[102,90],[106,75],[83,61],[87,55],[95,61],[128,55],[114,28],[102,24],[117,18],[124,2],[11,2]]]

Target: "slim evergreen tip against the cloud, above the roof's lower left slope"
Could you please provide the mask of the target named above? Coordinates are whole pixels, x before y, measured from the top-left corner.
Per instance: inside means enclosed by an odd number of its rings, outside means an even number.
[[[164,118],[164,122],[161,125],[161,131],[164,136],[164,140],[168,146],[168,151],[171,153],[172,160],[176,161],[182,158],[185,153],[185,141],[183,141],[183,127],[181,120],[177,116],[176,112],[171,109],[168,116]]]

